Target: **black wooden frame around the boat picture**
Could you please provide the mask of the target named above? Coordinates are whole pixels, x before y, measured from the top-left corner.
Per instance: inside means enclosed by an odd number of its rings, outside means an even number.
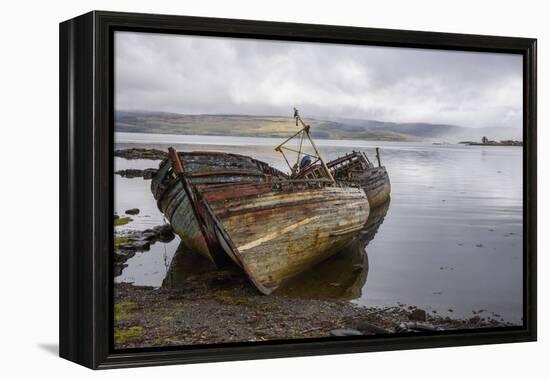
[[[523,56],[523,326],[114,351],[113,33],[116,30],[517,53]],[[536,340],[536,39],[93,11],[60,24],[60,356],[116,368]]]

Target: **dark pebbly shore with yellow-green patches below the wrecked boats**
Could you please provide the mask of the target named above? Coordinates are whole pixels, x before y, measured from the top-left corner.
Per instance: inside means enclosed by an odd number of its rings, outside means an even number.
[[[176,287],[170,282],[167,276],[159,289],[115,285],[116,348],[508,326],[493,318],[452,319],[407,305],[367,308],[348,301],[264,296],[236,267],[187,275]]]

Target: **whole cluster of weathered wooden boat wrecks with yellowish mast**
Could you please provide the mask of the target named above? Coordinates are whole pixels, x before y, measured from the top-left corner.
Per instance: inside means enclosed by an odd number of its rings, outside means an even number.
[[[376,202],[389,196],[383,167],[355,152],[325,162],[296,109],[294,118],[300,130],[275,148],[290,175],[247,156],[170,148],[151,183],[187,246],[218,267],[231,259],[264,294],[349,245],[367,221],[367,192]]]

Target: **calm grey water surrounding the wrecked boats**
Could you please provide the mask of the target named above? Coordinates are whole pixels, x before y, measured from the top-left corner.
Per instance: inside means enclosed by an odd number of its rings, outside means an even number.
[[[174,146],[226,151],[250,155],[287,171],[280,154],[273,151],[280,142],[279,138],[116,134],[117,149]],[[361,305],[403,303],[455,317],[486,310],[483,315],[496,313],[506,321],[521,322],[521,148],[316,142],[326,160],[353,149],[374,159],[374,147],[380,147],[392,184],[391,204],[374,238],[364,242],[368,242],[366,248],[356,244],[325,264],[325,269],[315,268],[301,281],[289,284],[284,292],[308,296],[311,289],[324,287],[327,294],[340,294],[329,289],[353,284],[353,289],[341,289],[342,298]],[[115,158],[115,170],[157,167],[158,163]],[[117,228],[145,229],[164,223],[149,184],[140,178],[115,176],[115,211],[123,215],[132,207],[141,210],[133,222]],[[176,238],[137,253],[115,280],[161,286],[178,245]],[[352,278],[334,280],[329,274],[333,266]]]

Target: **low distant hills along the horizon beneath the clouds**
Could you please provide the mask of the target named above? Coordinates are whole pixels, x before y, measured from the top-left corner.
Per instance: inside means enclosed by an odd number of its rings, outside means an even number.
[[[521,131],[510,134],[495,128],[464,128],[429,123],[390,123],[376,120],[305,118],[312,135],[322,139],[361,139],[378,141],[449,141],[479,140],[487,135],[492,139],[521,139]],[[230,135],[252,137],[285,137],[297,131],[294,120],[281,116],[249,115],[181,115],[166,112],[118,111],[115,115],[117,132]],[[492,133],[488,133],[492,132]],[[498,132],[499,135],[494,133]],[[507,134],[508,133],[508,134]],[[502,136],[500,134],[503,134]]]

